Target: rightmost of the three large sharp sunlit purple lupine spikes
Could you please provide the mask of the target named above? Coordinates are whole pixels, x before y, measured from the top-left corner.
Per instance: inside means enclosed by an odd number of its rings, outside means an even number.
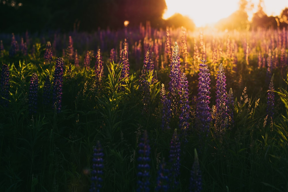
[[[226,91],[226,76],[222,63],[219,65],[217,71],[216,81],[216,114],[215,114],[215,127],[218,131],[223,131],[227,127],[228,114],[227,114],[227,91]]]

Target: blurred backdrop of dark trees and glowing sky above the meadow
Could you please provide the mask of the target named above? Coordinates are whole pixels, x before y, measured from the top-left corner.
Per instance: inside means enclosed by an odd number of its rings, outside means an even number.
[[[202,4],[199,4],[201,2]],[[213,26],[219,30],[251,30],[258,27],[283,28],[288,25],[288,1],[219,0],[217,4],[212,4],[216,1],[203,0],[201,2],[190,0],[0,0],[0,32],[43,33],[48,30],[92,32],[99,28],[117,30],[124,28],[125,21],[126,26],[129,25],[129,27],[138,27],[140,23],[145,24],[146,21],[150,21],[154,28],[185,26],[191,31],[197,27],[207,26]],[[267,10],[273,6],[277,8],[278,13],[266,14]]]

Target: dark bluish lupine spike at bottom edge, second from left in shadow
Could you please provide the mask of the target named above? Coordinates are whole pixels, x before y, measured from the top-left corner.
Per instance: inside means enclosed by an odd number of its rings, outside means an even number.
[[[139,147],[139,157],[138,160],[138,172],[137,172],[137,192],[148,192],[149,189],[149,178],[150,178],[150,146],[147,130],[144,131]]]

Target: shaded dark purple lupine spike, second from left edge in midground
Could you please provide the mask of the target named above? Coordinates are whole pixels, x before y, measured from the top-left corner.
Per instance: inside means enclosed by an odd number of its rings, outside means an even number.
[[[36,73],[32,74],[29,89],[29,112],[30,114],[37,113],[37,96],[38,96],[38,76]]]

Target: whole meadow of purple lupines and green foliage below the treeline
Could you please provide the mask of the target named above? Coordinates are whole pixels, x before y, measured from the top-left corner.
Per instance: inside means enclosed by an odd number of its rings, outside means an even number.
[[[0,191],[288,191],[287,28],[0,40]]]

